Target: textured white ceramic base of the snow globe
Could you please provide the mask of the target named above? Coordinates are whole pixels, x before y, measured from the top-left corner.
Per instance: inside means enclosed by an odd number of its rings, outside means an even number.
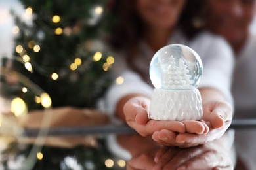
[[[154,120],[200,120],[203,116],[200,92],[154,89],[148,116]]]

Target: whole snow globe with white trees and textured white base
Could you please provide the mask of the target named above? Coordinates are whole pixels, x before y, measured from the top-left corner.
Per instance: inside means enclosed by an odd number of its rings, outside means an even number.
[[[200,56],[182,44],[158,50],[150,63],[154,93],[149,117],[154,120],[200,120],[203,115],[198,84],[203,65]]]

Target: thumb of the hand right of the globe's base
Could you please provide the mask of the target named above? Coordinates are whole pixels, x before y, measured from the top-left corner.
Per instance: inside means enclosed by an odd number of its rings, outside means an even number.
[[[209,122],[214,128],[224,126],[224,122],[232,120],[232,107],[228,103],[218,102],[210,114]]]

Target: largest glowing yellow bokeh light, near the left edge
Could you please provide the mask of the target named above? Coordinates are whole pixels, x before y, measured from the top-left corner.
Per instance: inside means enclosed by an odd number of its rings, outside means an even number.
[[[19,97],[16,97],[12,100],[11,102],[11,112],[13,112],[13,114],[16,117],[21,116],[22,114],[27,112],[27,107],[26,107],[26,103],[20,99]]]

